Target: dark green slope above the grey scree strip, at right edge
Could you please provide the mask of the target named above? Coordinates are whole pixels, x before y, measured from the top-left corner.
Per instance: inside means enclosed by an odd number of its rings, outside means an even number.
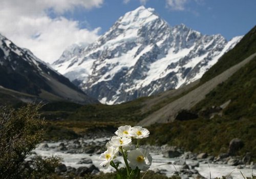
[[[254,26],[241,41],[224,54],[201,78],[201,84],[221,74],[231,66],[238,64],[256,52],[256,26]]]

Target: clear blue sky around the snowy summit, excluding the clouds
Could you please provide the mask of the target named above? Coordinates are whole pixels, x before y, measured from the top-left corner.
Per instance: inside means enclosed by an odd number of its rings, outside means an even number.
[[[234,36],[247,33],[256,25],[255,0],[205,0],[186,1],[184,9],[167,7],[164,0],[148,0],[143,4],[151,7],[168,22],[170,26],[181,23],[203,34],[222,34],[227,40]],[[121,0],[105,1],[101,8],[91,11],[79,9],[68,13],[68,18],[74,18],[83,23],[83,28],[101,27],[100,34],[108,31],[115,21],[125,12],[140,6],[138,0],[124,3]]]

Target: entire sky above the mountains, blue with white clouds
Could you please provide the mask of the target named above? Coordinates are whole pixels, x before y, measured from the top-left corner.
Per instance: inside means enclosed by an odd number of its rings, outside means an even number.
[[[141,5],[170,26],[183,23],[227,40],[256,25],[256,0],[1,0],[0,33],[52,63],[71,44],[94,42]]]

